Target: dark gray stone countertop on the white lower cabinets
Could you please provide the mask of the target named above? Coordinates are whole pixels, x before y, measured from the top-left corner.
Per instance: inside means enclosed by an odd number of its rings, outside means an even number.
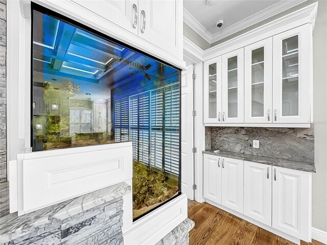
[[[249,155],[249,154],[243,154],[237,152],[220,151],[214,153],[215,150],[216,149],[206,150],[206,151],[202,151],[202,153],[316,173],[315,164],[312,162],[298,162],[298,161],[291,161],[291,160],[285,160],[285,159],[279,159],[273,157]]]

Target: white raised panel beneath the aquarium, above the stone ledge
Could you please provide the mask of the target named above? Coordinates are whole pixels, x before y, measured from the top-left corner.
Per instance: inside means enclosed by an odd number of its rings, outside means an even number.
[[[18,192],[18,197],[22,197],[22,210],[18,208],[19,214],[132,178],[131,142],[22,155],[22,193]]]

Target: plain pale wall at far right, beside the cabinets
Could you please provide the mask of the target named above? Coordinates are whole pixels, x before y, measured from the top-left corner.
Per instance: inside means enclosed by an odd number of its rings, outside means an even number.
[[[327,232],[327,1],[318,1],[313,34],[315,165],[312,226]]]

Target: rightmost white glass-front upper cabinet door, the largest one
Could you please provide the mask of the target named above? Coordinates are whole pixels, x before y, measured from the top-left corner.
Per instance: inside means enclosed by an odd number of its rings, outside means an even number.
[[[310,123],[310,24],[273,36],[273,122]]]

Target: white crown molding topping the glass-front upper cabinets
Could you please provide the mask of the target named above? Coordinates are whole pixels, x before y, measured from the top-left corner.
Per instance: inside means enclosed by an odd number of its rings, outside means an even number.
[[[314,27],[314,22],[317,15],[318,2],[303,7],[290,14],[282,16],[262,26],[241,34],[235,38],[227,40],[217,46],[208,48],[203,52],[203,60],[214,58],[222,52],[235,50],[239,47],[246,46],[253,42],[253,38],[260,36],[261,39],[268,38],[286,30],[301,26],[302,24],[311,23]]]

